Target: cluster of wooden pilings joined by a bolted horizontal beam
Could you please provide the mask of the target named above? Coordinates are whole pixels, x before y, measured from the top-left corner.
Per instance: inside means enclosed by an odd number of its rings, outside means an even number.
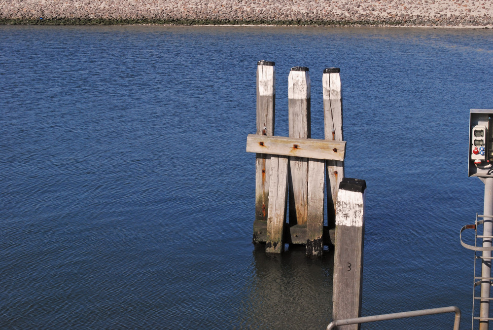
[[[281,252],[284,243],[304,244],[308,256],[321,256],[323,246],[335,241],[335,206],[339,183],[344,178],[346,152],[339,73],[338,68],[323,72],[324,140],[317,140],[311,139],[308,68],[291,68],[288,77],[289,137],[279,137],[274,135],[274,62],[257,63],[257,132],[248,135],[246,151],[256,153],[253,242],[267,243],[267,252]],[[286,157],[289,226],[284,225],[286,212],[282,211],[285,202],[282,162]],[[327,194],[330,195],[328,226],[323,225],[325,172]]]

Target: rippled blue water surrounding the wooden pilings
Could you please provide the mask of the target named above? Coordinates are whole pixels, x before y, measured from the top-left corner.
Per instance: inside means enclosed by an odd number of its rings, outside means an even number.
[[[332,254],[251,244],[258,60],[340,67],[346,176],[366,180],[363,315],[457,305],[483,210],[469,109],[492,109],[489,30],[0,26],[1,329],[323,329]],[[449,329],[452,315],[363,329]]]

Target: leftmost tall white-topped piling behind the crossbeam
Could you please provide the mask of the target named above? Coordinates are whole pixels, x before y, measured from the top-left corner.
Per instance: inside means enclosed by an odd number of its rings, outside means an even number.
[[[274,135],[276,105],[276,67],[274,62],[257,63],[257,134]],[[270,161],[268,154],[257,153],[255,157],[255,222],[253,223],[253,243],[259,243],[264,236],[269,215]]]

